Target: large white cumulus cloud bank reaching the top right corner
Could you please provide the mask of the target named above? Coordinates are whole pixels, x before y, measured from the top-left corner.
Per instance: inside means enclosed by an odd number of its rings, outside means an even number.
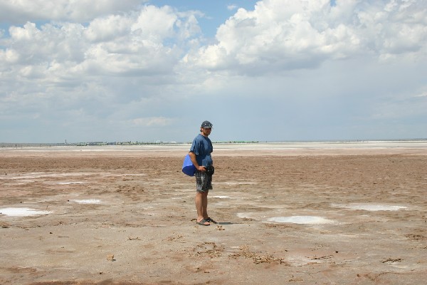
[[[364,56],[426,56],[422,1],[265,0],[238,9],[218,28],[218,43],[188,60],[211,70],[255,74],[315,68],[327,60]]]

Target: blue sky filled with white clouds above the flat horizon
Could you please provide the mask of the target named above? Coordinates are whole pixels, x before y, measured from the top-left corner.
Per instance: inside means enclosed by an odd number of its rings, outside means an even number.
[[[425,0],[0,0],[0,142],[427,138]]]

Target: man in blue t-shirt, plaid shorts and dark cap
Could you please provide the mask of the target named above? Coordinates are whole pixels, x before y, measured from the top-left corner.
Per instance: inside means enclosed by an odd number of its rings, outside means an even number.
[[[196,210],[197,224],[209,226],[216,222],[208,216],[208,192],[212,189],[212,172],[213,169],[211,152],[214,151],[211,140],[208,138],[212,131],[212,124],[205,120],[201,123],[200,134],[194,138],[191,144],[189,156],[191,162],[196,167]]]

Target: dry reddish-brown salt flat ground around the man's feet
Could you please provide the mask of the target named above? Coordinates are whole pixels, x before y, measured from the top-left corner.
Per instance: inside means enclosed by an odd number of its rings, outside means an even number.
[[[209,227],[184,154],[0,152],[0,284],[424,283],[426,150],[216,150]]]

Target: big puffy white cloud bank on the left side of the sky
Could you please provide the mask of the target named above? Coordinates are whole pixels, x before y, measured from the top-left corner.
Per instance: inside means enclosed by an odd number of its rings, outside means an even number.
[[[144,6],[139,14],[95,18],[87,27],[62,22],[38,28],[27,22],[9,28],[0,61],[11,77],[28,78],[37,70],[37,78],[44,73],[43,81],[50,83],[100,75],[171,74],[182,53],[181,35],[197,33],[196,25],[191,15],[182,18],[169,7],[154,6]]]

